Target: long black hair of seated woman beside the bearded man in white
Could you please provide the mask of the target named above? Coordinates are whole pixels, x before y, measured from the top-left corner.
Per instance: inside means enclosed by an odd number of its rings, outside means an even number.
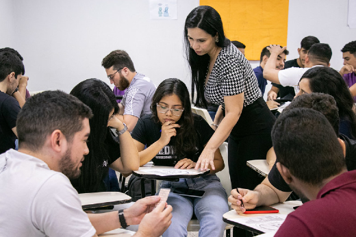
[[[89,120],[89,153],[85,156],[80,177],[72,180],[72,184],[78,192],[97,192],[108,171],[108,167],[103,166],[103,160],[109,160],[108,144],[120,149],[116,142],[107,140],[112,138],[107,136],[107,119],[113,109],[114,114],[119,111],[118,104],[110,87],[94,78],[77,84],[71,91],[71,95],[88,105],[94,114]]]

